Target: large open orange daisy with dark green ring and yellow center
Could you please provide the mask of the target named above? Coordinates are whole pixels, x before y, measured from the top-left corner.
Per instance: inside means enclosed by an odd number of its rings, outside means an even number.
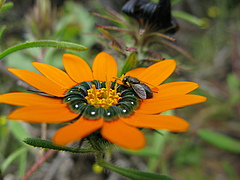
[[[58,145],[67,145],[95,134],[124,148],[141,149],[145,146],[145,137],[139,128],[184,132],[189,128],[185,120],[160,113],[206,101],[203,96],[187,94],[199,86],[197,83],[161,84],[176,67],[172,59],[126,74],[150,84],[154,88],[150,98],[140,98],[134,88],[116,81],[117,63],[105,52],[95,57],[92,69],[73,54],[64,54],[63,64],[66,72],[34,62],[42,75],[10,68],[10,72],[42,93],[0,95],[1,103],[22,106],[8,115],[11,120],[69,122],[53,137],[53,142]]]

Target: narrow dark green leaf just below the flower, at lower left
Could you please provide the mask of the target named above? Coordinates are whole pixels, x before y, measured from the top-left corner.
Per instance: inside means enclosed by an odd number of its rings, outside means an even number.
[[[53,144],[51,141],[48,140],[43,140],[43,139],[38,139],[38,138],[26,138],[23,140],[24,143],[34,146],[34,147],[39,147],[39,148],[44,148],[44,149],[54,149],[58,151],[68,151],[72,153],[95,153],[97,151],[93,149],[75,149],[67,146],[57,146]]]

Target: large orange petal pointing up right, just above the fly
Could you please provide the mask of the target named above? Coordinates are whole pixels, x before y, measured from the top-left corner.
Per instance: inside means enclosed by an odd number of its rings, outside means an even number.
[[[145,69],[142,73],[136,76],[140,81],[147,82],[153,86],[157,86],[165,81],[176,68],[174,59],[163,60],[155,63]]]

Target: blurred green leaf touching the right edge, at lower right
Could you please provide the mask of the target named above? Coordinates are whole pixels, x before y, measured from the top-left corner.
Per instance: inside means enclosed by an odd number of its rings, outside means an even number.
[[[210,144],[230,151],[234,153],[240,153],[240,141],[233,139],[229,136],[213,132],[208,129],[201,129],[198,131],[198,136],[200,136],[205,141],[209,142]]]

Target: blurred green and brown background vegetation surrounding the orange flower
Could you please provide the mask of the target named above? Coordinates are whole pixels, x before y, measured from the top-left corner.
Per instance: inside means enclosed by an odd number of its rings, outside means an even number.
[[[89,63],[106,47],[97,43],[101,39],[86,33],[99,33],[95,24],[109,23],[89,11],[104,12],[104,6],[109,5],[120,13],[125,3],[123,0],[58,0],[52,1],[51,6],[47,5],[49,1],[42,1],[44,3],[37,8],[33,0],[11,2],[14,3],[11,9],[0,12],[0,32],[3,32],[0,52],[26,41],[63,40],[88,47],[86,52],[74,53],[90,60]],[[176,45],[191,54],[194,60],[171,49],[171,58],[179,64],[172,77],[199,83],[200,89],[194,93],[207,96],[208,101],[176,110],[177,115],[190,122],[188,132],[175,135],[163,131],[161,135],[146,130],[148,142],[154,142],[153,147],[138,153],[115,152],[111,161],[123,167],[150,170],[178,180],[237,180],[240,178],[240,2],[172,2],[176,12],[188,13],[204,22],[199,27],[191,20],[177,17],[180,30],[173,36],[177,40]],[[64,50],[54,48],[32,48],[8,55],[0,61],[0,94],[29,88],[6,68],[36,71],[31,65],[33,61],[62,68],[63,53]],[[112,55],[117,57],[118,53],[112,51]],[[4,176],[6,180],[22,177],[41,156],[38,149],[22,143],[25,137],[40,137],[40,126],[7,121],[6,115],[13,108],[0,104],[0,179]],[[55,130],[56,125],[48,127],[48,139]],[[124,179],[105,171],[93,173],[93,164],[93,156],[59,152],[30,179]]]

